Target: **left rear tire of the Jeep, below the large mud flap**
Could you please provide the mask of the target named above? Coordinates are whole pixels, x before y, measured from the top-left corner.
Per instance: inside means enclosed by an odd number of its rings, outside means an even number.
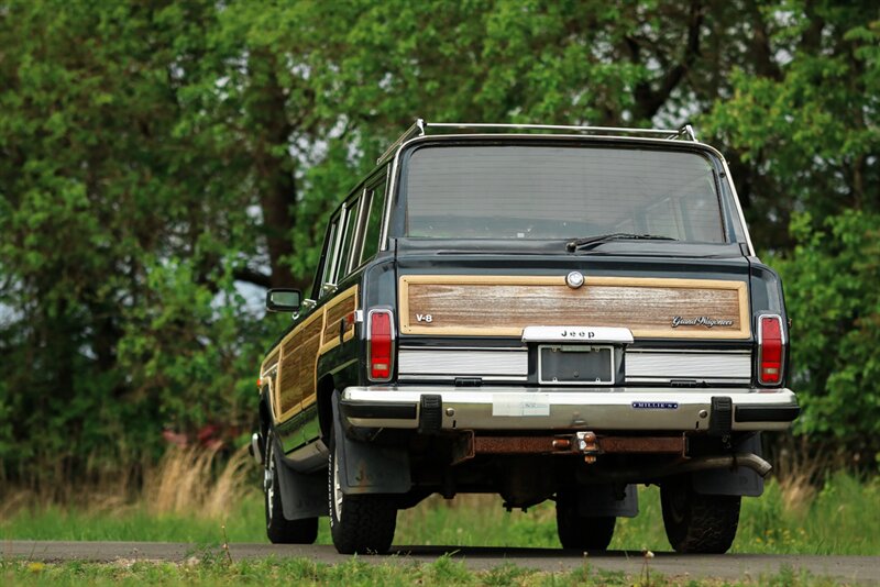
[[[336,443],[330,443],[328,501],[330,534],[340,554],[388,552],[397,527],[397,508],[388,496],[342,494]]]

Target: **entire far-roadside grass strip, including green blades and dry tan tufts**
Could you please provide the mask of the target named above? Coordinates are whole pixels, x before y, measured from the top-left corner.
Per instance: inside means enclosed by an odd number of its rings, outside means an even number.
[[[734,552],[880,554],[880,477],[828,474],[809,463],[779,467],[760,498],[744,498]],[[258,470],[245,450],[174,448],[144,472],[142,489],[105,488],[63,507],[10,492],[0,502],[0,539],[265,542]],[[128,483],[128,481],[125,481]],[[610,547],[667,551],[657,487],[640,488],[637,518],[619,519]],[[318,541],[329,543],[327,523]],[[501,498],[431,497],[398,513],[395,544],[556,549],[552,502],[507,513]]]

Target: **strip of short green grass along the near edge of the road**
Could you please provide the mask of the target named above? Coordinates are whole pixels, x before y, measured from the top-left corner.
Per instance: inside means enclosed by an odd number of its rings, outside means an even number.
[[[367,563],[352,557],[338,565],[306,558],[266,558],[229,563],[207,557],[191,564],[118,562],[113,564],[43,564],[26,561],[0,561],[0,584],[6,586],[127,586],[127,585],[345,585],[364,586],[653,586],[671,585],[777,585],[813,587],[834,585],[829,579],[784,569],[754,580],[723,583],[715,579],[668,579],[654,572],[639,576],[605,572],[588,564],[574,571],[540,572],[505,564],[487,571],[470,571],[461,562],[442,556],[431,564],[383,560]]]

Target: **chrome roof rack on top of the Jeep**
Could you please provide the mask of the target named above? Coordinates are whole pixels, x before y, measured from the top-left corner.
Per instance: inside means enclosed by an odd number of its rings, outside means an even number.
[[[461,131],[476,130],[501,130],[501,131],[549,131],[565,133],[596,134],[603,136],[646,136],[651,139],[662,139],[667,141],[691,141],[696,142],[696,134],[693,126],[685,124],[681,129],[624,129],[619,126],[565,126],[561,124],[493,124],[493,123],[469,123],[469,122],[426,122],[425,119],[417,119],[416,122],[400,135],[397,141],[376,159],[382,163],[388,158],[402,144],[416,136],[428,134],[429,129],[454,129]]]

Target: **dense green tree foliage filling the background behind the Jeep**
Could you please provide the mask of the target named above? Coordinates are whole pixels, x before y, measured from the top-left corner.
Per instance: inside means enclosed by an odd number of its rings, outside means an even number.
[[[695,123],[785,274],[800,430],[877,450],[879,22],[820,0],[0,3],[0,476],[249,425],[283,324],[253,292],[309,285],[324,213],[417,115]]]

